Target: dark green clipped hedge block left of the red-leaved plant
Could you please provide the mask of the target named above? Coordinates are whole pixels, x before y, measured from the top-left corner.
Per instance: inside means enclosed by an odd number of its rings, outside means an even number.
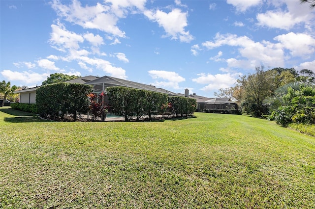
[[[39,87],[36,90],[38,113],[42,117],[62,118],[64,114],[72,113],[77,120],[78,113],[89,110],[86,95],[93,91],[91,85],[79,83],[53,83]]]

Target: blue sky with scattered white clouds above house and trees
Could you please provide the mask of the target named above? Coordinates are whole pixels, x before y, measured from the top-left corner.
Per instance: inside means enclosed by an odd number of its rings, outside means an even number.
[[[213,97],[256,66],[315,72],[299,0],[1,0],[0,80],[112,76]]]

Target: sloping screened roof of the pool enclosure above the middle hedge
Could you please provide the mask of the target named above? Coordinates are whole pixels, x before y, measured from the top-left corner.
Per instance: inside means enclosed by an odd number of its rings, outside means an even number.
[[[124,87],[129,87],[129,88],[136,88],[136,89],[142,89],[142,90],[147,90],[147,91],[154,91],[158,93],[168,94],[170,96],[179,96],[178,94],[174,92],[171,92],[162,88],[157,88],[153,85],[137,83],[134,81],[124,80],[121,78],[114,78],[110,76],[103,76],[101,78],[97,78],[95,80],[86,82],[85,84],[94,85],[94,88],[100,91],[103,90],[103,84],[104,84],[105,88],[111,87],[111,86],[124,86]]]

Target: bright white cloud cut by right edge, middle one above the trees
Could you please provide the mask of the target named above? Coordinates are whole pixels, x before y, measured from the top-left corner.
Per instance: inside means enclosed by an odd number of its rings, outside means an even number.
[[[289,32],[274,38],[283,48],[288,49],[292,56],[313,55],[315,52],[315,39],[307,34]]]

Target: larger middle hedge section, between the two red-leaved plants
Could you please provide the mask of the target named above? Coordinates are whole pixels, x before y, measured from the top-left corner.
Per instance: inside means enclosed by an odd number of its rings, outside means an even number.
[[[167,95],[122,86],[106,88],[110,111],[116,115],[125,116],[125,121],[136,116],[137,120],[143,115],[151,116],[160,113],[167,106]]]

